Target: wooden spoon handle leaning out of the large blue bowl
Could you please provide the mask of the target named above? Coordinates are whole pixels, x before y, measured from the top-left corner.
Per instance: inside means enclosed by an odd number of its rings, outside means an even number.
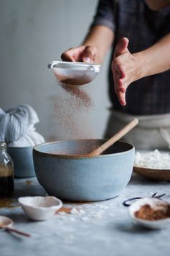
[[[128,123],[123,129],[121,129],[119,132],[117,132],[113,137],[110,138],[107,142],[105,142],[103,145],[98,147],[93,152],[90,152],[87,156],[88,157],[94,157],[97,155],[100,155],[103,151],[107,150],[108,147],[113,145],[115,142],[121,139],[125,134],[127,134],[133,127],[136,127],[136,124],[138,124],[138,119],[133,119],[130,123]]]

